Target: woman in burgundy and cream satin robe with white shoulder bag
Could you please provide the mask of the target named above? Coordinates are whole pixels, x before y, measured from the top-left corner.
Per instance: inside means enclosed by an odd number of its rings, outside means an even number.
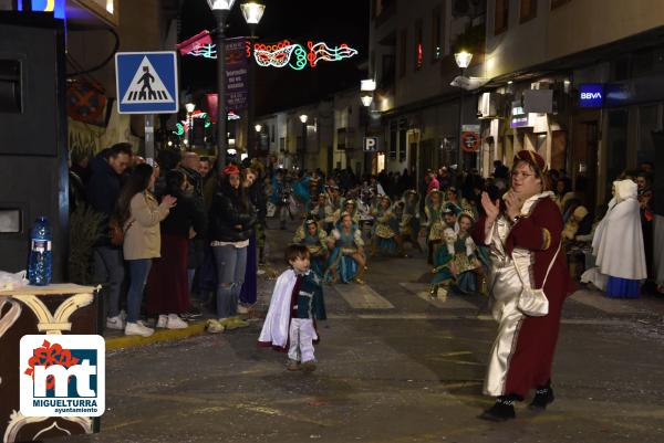
[[[562,215],[552,197],[546,162],[530,150],[515,156],[511,188],[502,201],[492,202],[486,192],[481,197],[485,215],[473,236],[489,249],[491,314],[499,326],[484,386],[485,394],[497,399],[480,419],[513,419],[513,402],[531,389],[536,395],[530,409],[541,411],[553,401],[551,365],[571,284],[560,251]],[[523,314],[518,307],[523,286],[541,288],[544,281],[548,314]]]

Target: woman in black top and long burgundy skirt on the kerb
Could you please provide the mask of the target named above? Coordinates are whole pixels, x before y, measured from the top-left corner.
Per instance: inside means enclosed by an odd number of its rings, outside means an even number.
[[[160,225],[162,257],[155,259],[147,281],[147,312],[158,315],[157,327],[187,327],[179,315],[189,307],[187,250],[189,239],[205,229],[205,213],[187,194],[190,184],[181,170],[166,173],[166,193],[177,199]]]

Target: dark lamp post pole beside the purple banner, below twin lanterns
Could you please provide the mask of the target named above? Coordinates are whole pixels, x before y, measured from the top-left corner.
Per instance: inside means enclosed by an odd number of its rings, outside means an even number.
[[[221,177],[226,167],[226,151],[228,149],[228,139],[226,138],[226,18],[228,11],[215,11],[217,19],[217,34],[215,43],[217,44],[217,173]]]

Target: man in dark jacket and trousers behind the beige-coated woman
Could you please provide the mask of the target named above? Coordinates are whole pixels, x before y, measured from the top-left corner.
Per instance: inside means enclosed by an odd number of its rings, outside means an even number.
[[[101,296],[106,300],[106,327],[124,329],[124,319],[120,313],[120,293],[124,281],[122,249],[108,241],[108,219],[113,215],[115,203],[122,189],[122,176],[132,158],[132,145],[120,143],[104,149],[92,160],[92,175],[87,184],[87,203],[104,214],[100,240],[93,251],[95,282],[104,284]]]

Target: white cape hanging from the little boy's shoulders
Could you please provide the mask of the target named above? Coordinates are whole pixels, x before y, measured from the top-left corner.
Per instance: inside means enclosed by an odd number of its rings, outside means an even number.
[[[270,344],[279,348],[284,348],[288,344],[290,304],[297,279],[298,276],[293,270],[286,271],[277,278],[268,315],[258,337],[259,344]]]

